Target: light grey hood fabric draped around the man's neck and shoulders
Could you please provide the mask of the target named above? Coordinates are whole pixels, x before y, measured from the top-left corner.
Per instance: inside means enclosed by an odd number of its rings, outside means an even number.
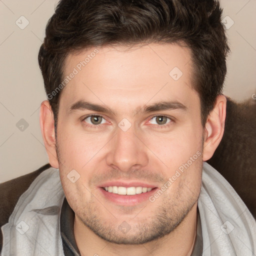
[[[1,256],[64,256],[59,223],[63,199],[58,170],[49,168],[39,174],[1,227]],[[203,256],[256,253],[255,219],[231,185],[206,162],[197,207]]]

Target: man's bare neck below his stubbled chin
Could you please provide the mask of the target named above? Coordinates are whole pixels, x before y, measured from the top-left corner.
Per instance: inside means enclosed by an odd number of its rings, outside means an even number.
[[[75,215],[74,236],[81,255],[190,256],[196,237],[196,207],[193,205],[180,224],[169,234],[143,244],[115,244],[103,240]]]

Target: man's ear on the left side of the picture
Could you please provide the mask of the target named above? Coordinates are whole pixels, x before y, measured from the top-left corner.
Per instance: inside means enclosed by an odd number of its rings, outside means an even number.
[[[54,118],[48,100],[44,100],[40,106],[40,127],[44,146],[48,154],[49,163],[52,167],[58,168],[58,160],[55,147],[56,140],[54,131]]]

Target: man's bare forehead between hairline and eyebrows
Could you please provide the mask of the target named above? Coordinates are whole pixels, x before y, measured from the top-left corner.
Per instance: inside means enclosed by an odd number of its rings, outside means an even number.
[[[189,101],[197,96],[190,58],[188,47],[170,43],[91,47],[69,54],[60,106],[86,100],[134,111],[149,101]]]

